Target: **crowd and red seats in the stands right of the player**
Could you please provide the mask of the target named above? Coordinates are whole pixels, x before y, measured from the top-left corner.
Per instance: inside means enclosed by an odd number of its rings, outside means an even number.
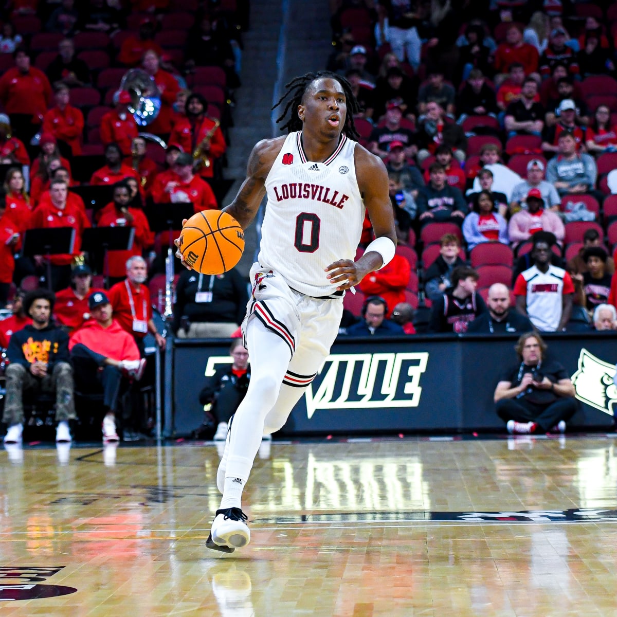
[[[403,303],[415,332],[465,333],[479,315],[499,321],[490,299],[504,289],[507,310],[539,331],[617,329],[606,309],[617,301],[615,4],[339,0],[332,11],[327,68],[350,81],[360,143],[386,164],[407,261],[347,294],[342,331],[389,334],[368,318]],[[367,218],[362,246],[371,237]]]

